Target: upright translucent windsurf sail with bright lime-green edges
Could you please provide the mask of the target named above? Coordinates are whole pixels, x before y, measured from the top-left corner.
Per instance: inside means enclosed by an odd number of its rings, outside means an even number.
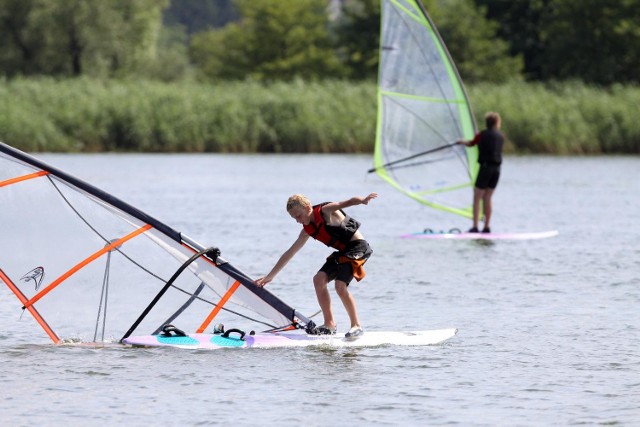
[[[382,0],[374,167],[409,197],[472,216],[476,133],[455,64],[417,0]]]

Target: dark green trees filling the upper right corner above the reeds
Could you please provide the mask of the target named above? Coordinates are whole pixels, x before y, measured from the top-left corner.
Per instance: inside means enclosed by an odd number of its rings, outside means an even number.
[[[638,83],[639,0],[475,0],[529,80]]]

